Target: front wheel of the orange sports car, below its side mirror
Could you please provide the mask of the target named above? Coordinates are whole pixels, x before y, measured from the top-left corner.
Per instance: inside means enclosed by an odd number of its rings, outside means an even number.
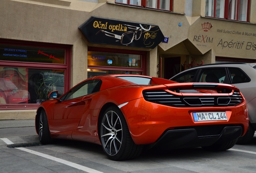
[[[44,110],[41,110],[39,115],[38,134],[39,134],[39,141],[42,144],[51,143],[52,138],[50,135],[47,116]]]

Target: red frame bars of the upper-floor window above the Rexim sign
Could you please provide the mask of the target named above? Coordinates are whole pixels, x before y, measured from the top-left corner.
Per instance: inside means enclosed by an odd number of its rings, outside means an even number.
[[[250,15],[250,0],[247,1],[247,15],[246,15],[246,20],[238,20],[239,18],[239,2],[242,0],[236,0],[236,9],[235,11],[235,19],[230,19],[229,18],[229,0],[224,0],[224,17],[216,17],[216,4],[217,0],[213,0],[213,16],[206,16],[206,17],[212,17],[212,18],[220,18],[220,19],[226,19],[226,20],[234,20],[234,21],[240,21],[240,22],[249,22],[249,15]],[[211,3],[210,3],[211,4]],[[206,8],[206,4],[205,4]],[[232,9],[231,9],[232,10]]]

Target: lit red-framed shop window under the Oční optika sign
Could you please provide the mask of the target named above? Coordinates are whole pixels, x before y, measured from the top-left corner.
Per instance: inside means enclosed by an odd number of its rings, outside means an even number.
[[[88,50],[88,78],[105,74],[146,75],[146,52],[92,47]]]

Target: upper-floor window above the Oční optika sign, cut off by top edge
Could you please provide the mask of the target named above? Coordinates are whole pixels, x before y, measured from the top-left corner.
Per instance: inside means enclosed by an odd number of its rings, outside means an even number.
[[[116,3],[172,11],[172,0],[116,0]]]

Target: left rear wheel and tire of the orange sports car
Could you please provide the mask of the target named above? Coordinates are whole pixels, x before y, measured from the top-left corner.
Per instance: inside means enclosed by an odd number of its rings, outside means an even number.
[[[104,153],[114,161],[134,159],[143,149],[142,145],[133,142],[124,115],[118,107],[109,107],[103,114],[99,138]]]

